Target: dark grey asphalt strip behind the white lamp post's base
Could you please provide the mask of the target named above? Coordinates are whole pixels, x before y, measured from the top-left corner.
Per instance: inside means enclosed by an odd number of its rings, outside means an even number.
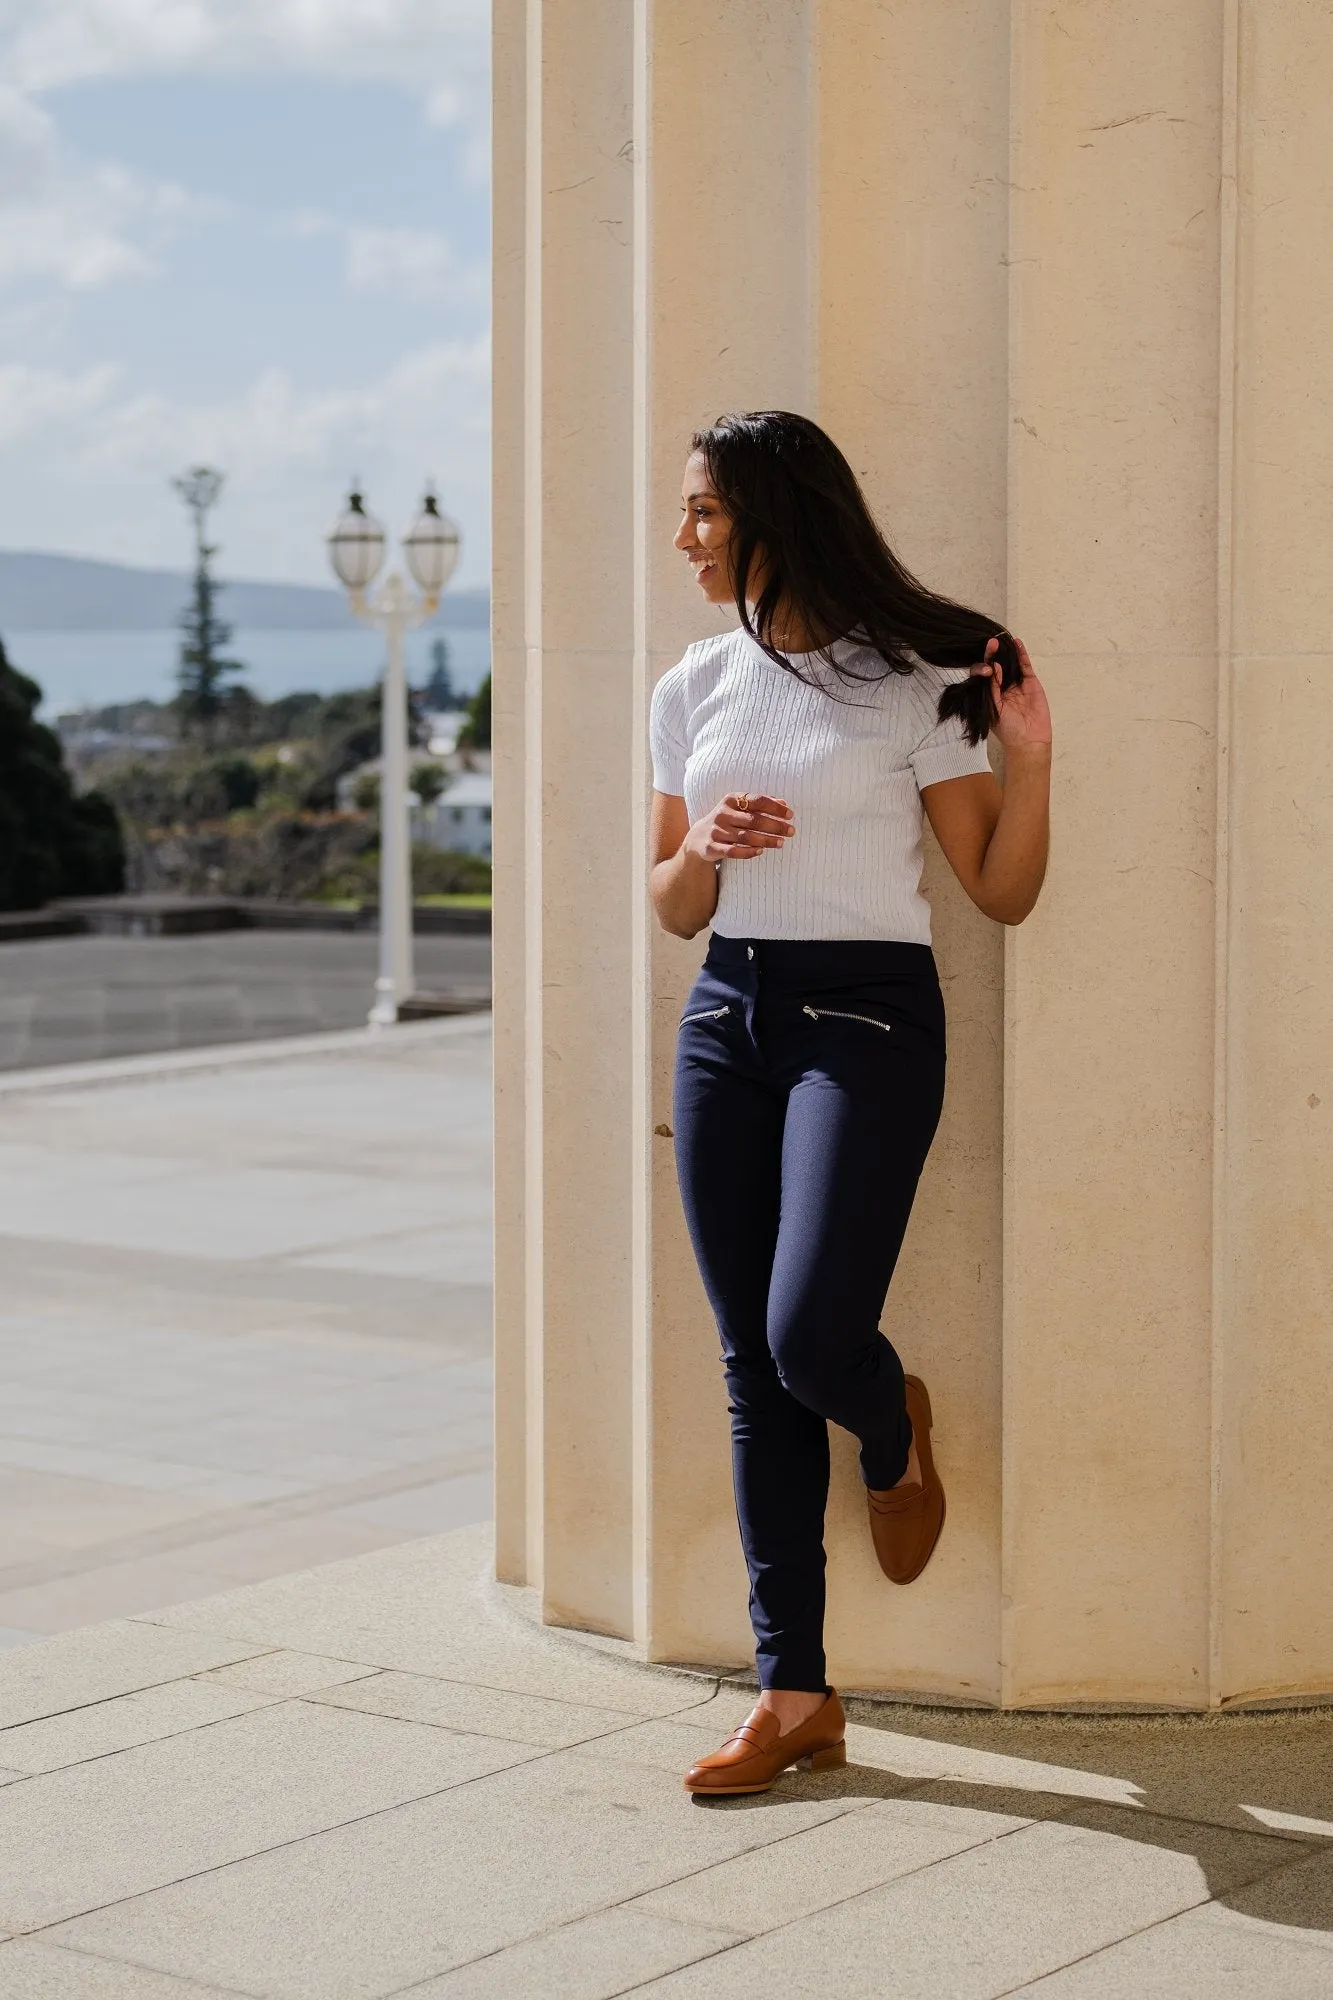
[[[360,1028],[376,952],[368,930],[0,944],[0,1070]],[[484,998],[490,938],[416,938],[416,980]]]

